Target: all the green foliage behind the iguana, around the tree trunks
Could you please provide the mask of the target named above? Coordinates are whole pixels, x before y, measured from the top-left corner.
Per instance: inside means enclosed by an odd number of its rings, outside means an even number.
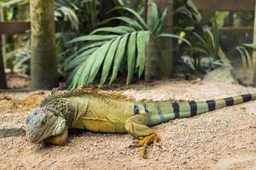
[[[133,77],[143,77],[146,43],[156,37],[178,39],[173,47],[176,76],[201,77],[221,65],[215,20],[210,24],[212,31],[203,31],[196,20],[198,11],[189,7],[186,1],[176,0],[174,34],[165,34],[161,26],[167,11],[158,11],[152,5],[154,17],[151,22],[154,24],[148,28],[144,20],[145,3],[144,0],[55,0],[55,20],[71,23],[71,30],[63,28],[55,35],[58,71],[69,88],[95,80],[100,85],[111,83],[119,76],[125,76],[128,84]],[[6,10],[8,20],[16,20],[17,8],[20,3]],[[20,38],[20,42],[21,49],[13,63],[15,68],[29,74],[30,31]]]

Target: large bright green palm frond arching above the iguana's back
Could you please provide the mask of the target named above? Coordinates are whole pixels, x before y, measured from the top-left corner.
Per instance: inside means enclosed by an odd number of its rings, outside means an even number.
[[[161,31],[161,27],[166,18],[167,10],[164,10],[159,16],[158,8],[155,3],[151,4],[153,10],[153,20],[151,27],[148,27],[143,18],[131,8],[116,7],[113,10],[124,10],[131,14],[134,19],[126,16],[113,17],[103,20],[102,24],[112,20],[119,20],[124,23],[123,26],[102,27],[92,31],[90,35],[77,37],[71,43],[81,43],[84,45],[75,54],[67,58],[67,71],[72,71],[67,80],[69,88],[88,85],[93,82],[96,75],[102,68],[100,85],[103,85],[110,74],[112,74],[109,84],[118,76],[120,65],[127,57],[127,80],[131,82],[133,74],[137,72],[141,77],[145,67],[145,50],[149,37],[172,37],[182,39],[183,42],[189,42],[174,34],[168,34]]]

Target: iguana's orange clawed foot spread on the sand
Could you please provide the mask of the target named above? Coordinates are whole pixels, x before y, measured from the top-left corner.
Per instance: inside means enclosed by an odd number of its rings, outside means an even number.
[[[131,145],[133,147],[142,147],[141,156],[143,156],[143,158],[147,158],[147,148],[148,145],[152,143],[154,143],[157,146],[160,146],[160,138],[157,135],[157,133],[152,133],[148,136],[143,137],[143,139],[136,139],[132,142]]]

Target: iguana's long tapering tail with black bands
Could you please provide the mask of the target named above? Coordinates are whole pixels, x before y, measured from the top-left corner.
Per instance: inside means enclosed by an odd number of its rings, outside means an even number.
[[[148,114],[148,126],[167,122],[175,118],[185,118],[200,115],[230,105],[241,104],[256,99],[256,94],[244,94],[224,99],[207,101],[164,101],[144,102],[135,105],[137,110]]]

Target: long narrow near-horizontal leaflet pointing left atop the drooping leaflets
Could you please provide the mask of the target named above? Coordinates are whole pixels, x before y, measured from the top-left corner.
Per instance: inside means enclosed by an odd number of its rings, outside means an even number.
[[[84,42],[84,41],[102,41],[102,40],[110,40],[117,37],[117,35],[88,35],[88,36],[82,36],[82,37],[77,37],[71,40],[70,42],[67,43],[73,43],[73,42]]]

